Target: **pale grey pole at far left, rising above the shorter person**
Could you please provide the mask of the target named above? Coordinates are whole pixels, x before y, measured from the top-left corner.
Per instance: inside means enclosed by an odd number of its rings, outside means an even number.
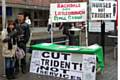
[[[2,28],[5,29],[6,25],[6,2],[2,0]]]

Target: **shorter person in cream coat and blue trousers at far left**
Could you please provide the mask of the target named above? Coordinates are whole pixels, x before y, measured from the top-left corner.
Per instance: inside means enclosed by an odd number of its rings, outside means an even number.
[[[2,32],[2,55],[5,57],[5,74],[8,80],[15,79],[14,63],[16,51],[16,30],[14,21],[8,21],[7,30]]]

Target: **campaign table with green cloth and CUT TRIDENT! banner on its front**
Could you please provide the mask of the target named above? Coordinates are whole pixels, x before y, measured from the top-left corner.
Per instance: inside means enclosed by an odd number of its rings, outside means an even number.
[[[42,43],[32,46],[30,72],[70,80],[96,80],[96,69],[104,70],[102,48]]]

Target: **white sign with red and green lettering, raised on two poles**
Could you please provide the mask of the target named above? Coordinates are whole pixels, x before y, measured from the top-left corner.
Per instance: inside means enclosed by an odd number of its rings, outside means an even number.
[[[80,22],[87,20],[87,3],[52,3],[52,22]]]

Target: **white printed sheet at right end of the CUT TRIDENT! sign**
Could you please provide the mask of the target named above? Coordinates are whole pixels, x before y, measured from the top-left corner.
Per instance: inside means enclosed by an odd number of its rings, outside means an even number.
[[[96,80],[96,56],[83,55],[83,80]]]

